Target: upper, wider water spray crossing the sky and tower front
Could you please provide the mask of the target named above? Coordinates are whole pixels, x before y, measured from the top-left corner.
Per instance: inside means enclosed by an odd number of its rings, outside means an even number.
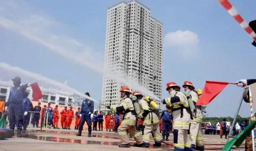
[[[60,56],[84,67],[103,73],[111,79],[124,83],[132,89],[158,99],[152,91],[139,85],[137,82],[124,78],[122,74],[114,74],[104,67],[104,55],[98,54],[88,45],[72,38],[56,20],[42,15],[22,0],[3,1],[0,5],[0,28],[22,35],[47,50],[58,53]],[[29,46],[28,46],[29,48]],[[9,51],[9,50],[8,50]]]

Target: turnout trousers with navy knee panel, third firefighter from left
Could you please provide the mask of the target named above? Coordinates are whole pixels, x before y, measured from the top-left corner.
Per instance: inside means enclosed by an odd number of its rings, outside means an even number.
[[[174,151],[191,151],[191,142],[188,136],[188,130],[173,130],[173,147]]]

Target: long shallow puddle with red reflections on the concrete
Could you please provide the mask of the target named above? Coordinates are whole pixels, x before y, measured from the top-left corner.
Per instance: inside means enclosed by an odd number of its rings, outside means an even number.
[[[69,143],[77,143],[77,144],[95,144],[95,145],[113,145],[118,146],[120,142],[109,142],[109,141],[91,141],[91,140],[81,140],[81,139],[70,139],[70,138],[61,138],[61,137],[52,137],[52,136],[34,136],[28,135],[25,138],[29,139],[37,139],[37,140],[44,140],[44,141],[54,141],[54,142],[69,142]],[[133,143],[131,143],[133,145]],[[162,144],[162,148],[167,148],[169,146]],[[156,148],[153,147],[153,144],[150,144],[149,148]]]

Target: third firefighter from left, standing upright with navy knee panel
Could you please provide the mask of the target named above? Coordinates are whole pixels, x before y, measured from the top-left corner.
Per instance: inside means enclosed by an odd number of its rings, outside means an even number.
[[[168,112],[173,117],[173,147],[174,151],[191,151],[191,142],[188,137],[191,120],[187,97],[180,92],[181,87],[175,82],[168,82],[166,90],[170,98],[163,99]]]

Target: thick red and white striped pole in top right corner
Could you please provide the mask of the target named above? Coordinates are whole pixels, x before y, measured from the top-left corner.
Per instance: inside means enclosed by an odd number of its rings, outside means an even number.
[[[240,26],[248,33],[254,41],[256,41],[256,34],[248,25],[248,23],[238,13],[237,9],[228,0],[218,0],[218,2],[227,10],[227,12],[240,24]]]

